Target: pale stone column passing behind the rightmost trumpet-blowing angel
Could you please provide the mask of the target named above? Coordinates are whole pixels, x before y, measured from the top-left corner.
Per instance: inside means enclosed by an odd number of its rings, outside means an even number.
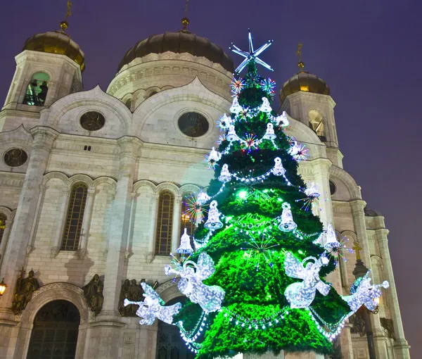
[[[362,261],[368,269],[371,269],[371,252],[369,251],[368,237],[366,235],[366,223],[364,208],[366,202],[362,199],[356,199],[350,201],[350,207],[352,208],[352,217],[354,232],[357,234],[357,240],[363,251],[360,253]],[[388,358],[387,348],[385,346],[385,335],[383,329],[381,329],[380,317],[378,314],[369,315],[371,321],[371,327],[373,332],[373,339],[375,341],[375,351],[378,358]]]

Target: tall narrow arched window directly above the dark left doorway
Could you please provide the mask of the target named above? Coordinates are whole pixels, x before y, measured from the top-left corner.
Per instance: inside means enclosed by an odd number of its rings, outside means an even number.
[[[87,203],[88,186],[77,183],[70,192],[68,215],[63,231],[62,251],[77,251],[81,238],[82,220],[84,219],[85,204]]]

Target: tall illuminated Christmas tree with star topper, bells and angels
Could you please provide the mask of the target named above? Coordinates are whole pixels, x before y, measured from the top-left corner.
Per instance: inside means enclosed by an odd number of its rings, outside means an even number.
[[[218,150],[205,156],[215,178],[193,208],[210,205],[194,235],[197,251],[191,253],[185,231],[178,250],[184,256],[165,267],[181,277],[179,289],[190,299],[173,323],[198,358],[282,349],[331,353],[347,317],[362,304],[375,309],[381,291],[365,276],[342,297],[324,280],[341,244],[331,224],[324,230],[312,213],[319,193],[298,175],[306,149],[284,133],[286,114],[270,106],[275,83],[257,73],[257,64],[271,69],[258,57],[271,42],[256,51],[250,35],[249,42],[249,51],[234,46],[245,57],[236,72],[247,73],[232,84],[231,115],[218,122],[224,132]],[[157,306],[156,316],[167,322],[179,310]]]

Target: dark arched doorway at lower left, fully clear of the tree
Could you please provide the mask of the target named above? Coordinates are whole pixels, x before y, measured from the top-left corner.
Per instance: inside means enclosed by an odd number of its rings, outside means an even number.
[[[75,359],[79,310],[69,301],[51,301],[34,319],[27,359]]]

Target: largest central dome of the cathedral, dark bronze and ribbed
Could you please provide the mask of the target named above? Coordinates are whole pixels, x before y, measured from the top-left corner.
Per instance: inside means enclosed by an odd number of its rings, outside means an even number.
[[[224,53],[221,47],[213,44],[205,37],[199,37],[187,30],[181,30],[179,32],[155,34],[147,39],[141,40],[124,54],[117,68],[117,72],[124,65],[128,65],[134,61],[135,58],[141,58],[148,55],[148,53],[164,53],[166,51],[191,53],[191,55],[198,57],[203,56],[213,63],[219,63],[225,70],[231,73],[234,71],[233,60]]]

